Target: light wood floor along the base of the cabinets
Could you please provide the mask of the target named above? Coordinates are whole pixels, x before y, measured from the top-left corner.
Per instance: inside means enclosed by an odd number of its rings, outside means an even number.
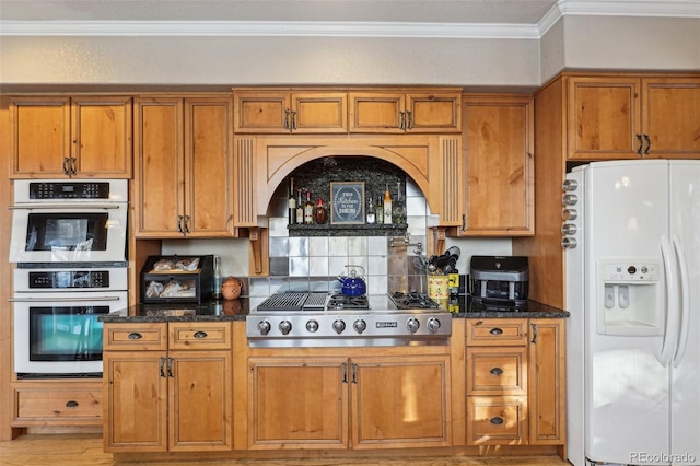
[[[405,452],[404,452],[405,455]],[[101,434],[22,435],[11,442],[0,442],[2,466],[102,466],[132,465],[137,463],[115,462],[109,453],[102,451]],[[153,462],[148,466],[175,465],[238,465],[238,466],[570,466],[556,456],[537,457],[472,457],[453,456],[382,459],[230,459],[225,462]]]

